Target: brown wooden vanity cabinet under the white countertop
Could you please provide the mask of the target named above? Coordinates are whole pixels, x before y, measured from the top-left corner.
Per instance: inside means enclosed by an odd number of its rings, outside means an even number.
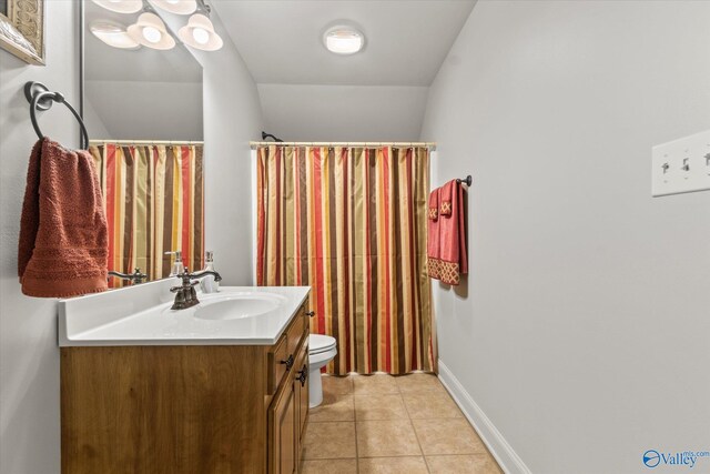
[[[62,473],[297,473],[307,344],[61,347]]]

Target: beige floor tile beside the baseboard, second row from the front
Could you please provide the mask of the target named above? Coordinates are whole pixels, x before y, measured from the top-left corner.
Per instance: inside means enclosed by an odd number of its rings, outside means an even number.
[[[422,451],[434,454],[485,454],[486,446],[466,418],[413,420]],[[357,436],[359,443],[359,433]]]

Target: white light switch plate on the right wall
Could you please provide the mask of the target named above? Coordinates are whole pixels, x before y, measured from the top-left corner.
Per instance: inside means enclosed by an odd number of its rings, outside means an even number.
[[[653,196],[710,190],[710,130],[653,147]]]

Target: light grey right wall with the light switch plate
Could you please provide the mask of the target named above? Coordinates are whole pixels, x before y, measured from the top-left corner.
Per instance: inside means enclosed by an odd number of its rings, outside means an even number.
[[[479,1],[432,87],[438,177],[474,177],[440,361],[535,473],[710,448],[710,192],[650,196],[651,147],[710,129],[708,24],[709,2]]]

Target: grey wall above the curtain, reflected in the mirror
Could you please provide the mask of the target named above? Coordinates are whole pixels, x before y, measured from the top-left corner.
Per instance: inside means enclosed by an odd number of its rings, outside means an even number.
[[[84,93],[109,132],[93,140],[202,140],[202,82],[88,80]]]

